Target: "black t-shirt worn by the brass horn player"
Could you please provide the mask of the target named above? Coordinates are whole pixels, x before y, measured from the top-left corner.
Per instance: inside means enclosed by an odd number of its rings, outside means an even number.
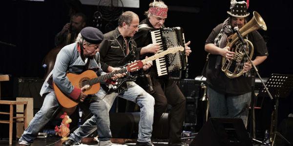
[[[214,39],[220,33],[223,24],[216,26],[210,33],[206,44],[214,44]],[[248,39],[253,44],[254,53],[252,60],[255,56],[265,56],[268,55],[268,49],[263,37],[257,32],[252,31],[248,35]],[[207,83],[215,91],[229,94],[244,94],[251,91],[251,83],[254,78],[246,77],[241,75],[236,78],[229,78],[221,71],[221,68],[215,68],[216,58],[220,55],[209,55],[209,61],[206,67],[205,76],[207,78]]]

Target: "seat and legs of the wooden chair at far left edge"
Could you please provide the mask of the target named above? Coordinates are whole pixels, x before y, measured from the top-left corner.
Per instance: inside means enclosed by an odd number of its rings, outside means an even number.
[[[9,114],[9,120],[0,120],[0,123],[6,123],[9,124],[9,145],[12,145],[12,128],[13,128],[13,122],[16,123],[23,123],[24,129],[27,128],[26,124],[26,106],[27,101],[10,101],[10,100],[0,100],[0,105],[10,105],[10,112],[0,112],[0,114]],[[14,105],[23,105],[23,116],[21,117],[14,117],[13,116],[13,106]],[[23,121],[18,121],[17,119],[23,118]],[[13,119],[16,119],[13,121]]]

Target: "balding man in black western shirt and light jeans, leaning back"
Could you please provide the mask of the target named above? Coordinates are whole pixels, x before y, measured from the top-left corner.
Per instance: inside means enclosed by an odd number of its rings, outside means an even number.
[[[100,45],[101,66],[105,72],[113,72],[130,61],[139,60],[140,55],[136,48],[136,43],[132,39],[138,30],[138,16],[131,11],[126,11],[119,17],[118,25],[115,30],[104,35],[104,40]],[[146,71],[151,65],[152,62],[147,61],[143,70]],[[151,125],[153,124],[154,98],[133,81],[127,81],[122,86],[126,90],[120,92],[120,89],[117,89],[109,93],[107,88],[102,85],[104,89],[101,89],[102,92],[98,93],[100,95],[98,97],[103,98],[108,110],[110,110],[117,96],[137,103],[140,107],[140,121],[136,146],[153,146],[150,138]],[[103,130],[110,131],[109,127]]]

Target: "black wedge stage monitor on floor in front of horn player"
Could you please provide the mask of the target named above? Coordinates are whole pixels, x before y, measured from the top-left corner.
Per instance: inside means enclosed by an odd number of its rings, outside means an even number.
[[[252,146],[241,119],[209,118],[190,146]]]

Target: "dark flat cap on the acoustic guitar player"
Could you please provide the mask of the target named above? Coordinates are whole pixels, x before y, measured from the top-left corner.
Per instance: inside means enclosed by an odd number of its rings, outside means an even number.
[[[91,44],[99,44],[104,39],[103,33],[94,27],[84,27],[81,31],[84,40]]]

